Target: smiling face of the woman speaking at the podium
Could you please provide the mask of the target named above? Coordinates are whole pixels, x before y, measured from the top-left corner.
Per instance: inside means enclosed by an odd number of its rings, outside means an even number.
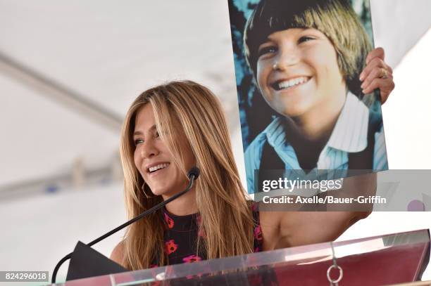
[[[183,132],[176,134],[176,138],[185,169],[189,170],[194,166],[192,149]],[[153,107],[149,103],[137,112],[133,141],[135,166],[154,195],[163,195],[166,199],[186,188],[188,178],[174,163],[172,153],[158,135]]]

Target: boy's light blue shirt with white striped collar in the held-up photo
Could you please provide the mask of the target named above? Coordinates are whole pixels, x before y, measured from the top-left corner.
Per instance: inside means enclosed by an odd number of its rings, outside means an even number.
[[[342,108],[334,130],[318,157],[317,167],[327,170],[346,170],[349,168],[349,153],[361,152],[368,144],[369,110],[361,100],[351,92],[347,93],[346,102]],[[374,170],[387,170],[387,155],[383,127],[374,135]],[[265,130],[258,134],[244,153],[247,186],[249,193],[254,193],[254,170],[261,164],[263,145],[268,141],[285,163],[286,169],[299,170],[296,153],[289,144],[282,119],[277,117]]]

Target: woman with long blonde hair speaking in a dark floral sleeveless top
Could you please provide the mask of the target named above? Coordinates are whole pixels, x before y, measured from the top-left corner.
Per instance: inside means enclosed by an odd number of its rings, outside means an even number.
[[[191,167],[201,170],[189,193],[127,228],[111,259],[130,270],[330,241],[366,215],[258,212],[239,180],[220,103],[195,82],[138,96],[120,153],[130,218],[184,190]]]

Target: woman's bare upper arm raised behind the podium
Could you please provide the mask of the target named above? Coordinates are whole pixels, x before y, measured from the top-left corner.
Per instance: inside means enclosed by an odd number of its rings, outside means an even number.
[[[371,195],[375,193],[376,182],[376,174],[345,178],[342,190],[337,192],[347,193],[348,197]],[[361,212],[349,211],[350,205],[341,207],[344,207],[341,212],[261,212],[263,249],[335,240],[356,221],[366,218],[372,206],[365,206]]]

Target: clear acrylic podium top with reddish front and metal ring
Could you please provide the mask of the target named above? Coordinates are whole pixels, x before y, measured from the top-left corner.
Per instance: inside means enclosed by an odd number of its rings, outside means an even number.
[[[391,285],[419,280],[429,230],[277,249],[68,281],[75,285]],[[340,271],[341,268],[341,271]]]

